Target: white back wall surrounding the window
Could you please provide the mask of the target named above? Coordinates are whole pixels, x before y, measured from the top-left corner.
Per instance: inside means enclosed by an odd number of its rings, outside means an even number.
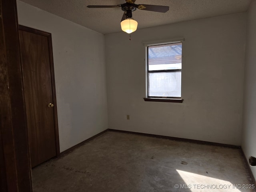
[[[107,34],[109,128],[240,145],[245,36],[246,13]],[[180,38],[184,102],[145,102],[143,42]]]

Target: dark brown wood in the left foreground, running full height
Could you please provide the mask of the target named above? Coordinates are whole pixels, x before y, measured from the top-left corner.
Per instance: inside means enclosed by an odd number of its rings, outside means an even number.
[[[0,192],[31,192],[16,0],[0,0]]]

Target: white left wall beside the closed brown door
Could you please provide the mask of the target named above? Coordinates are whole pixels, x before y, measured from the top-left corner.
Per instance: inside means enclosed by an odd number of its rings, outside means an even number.
[[[60,152],[108,128],[104,35],[17,1],[19,24],[50,32]]]

